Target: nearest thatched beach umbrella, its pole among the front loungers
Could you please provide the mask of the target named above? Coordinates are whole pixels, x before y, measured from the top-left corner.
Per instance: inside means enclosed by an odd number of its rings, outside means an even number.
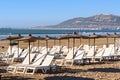
[[[16,41],[25,41],[28,42],[28,47],[29,47],[29,64],[30,64],[30,42],[34,42],[37,40],[37,37],[32,36],[31,34],[28,34],[28,36],[25,36],[20,39],[16,39]]]

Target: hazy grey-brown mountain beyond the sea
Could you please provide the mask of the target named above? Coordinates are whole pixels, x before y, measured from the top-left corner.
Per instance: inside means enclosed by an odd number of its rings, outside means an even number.
[[[43,29],[119,29],[120,28],[120,16],[112,14],[98,14],[91,17],[78,17],[66,20],[60,24],[53,26],[34,27]]]

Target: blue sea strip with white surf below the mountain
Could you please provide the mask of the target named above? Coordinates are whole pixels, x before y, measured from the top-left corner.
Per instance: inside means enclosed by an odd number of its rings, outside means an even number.
[[[103,29],[103,30],[69,30],[69,29],[63,29],[63,30],[42,30],[42,29],[11,29],[11,28],[0,28],[0,39],[5,38],[7,36],[14,36],[17,34],[21,34],[22,36],[26,36],[28,34],[32,34],[33,36],[51,36],[51,37],[58,37],[62,36],[65,34],[71,34],[73,32],[76,32],[81,35],[88,35],[92,33],[96,34],[112,34],[112,33],[117,33],[120,34],[120,30],[110,30],[110,29]]]

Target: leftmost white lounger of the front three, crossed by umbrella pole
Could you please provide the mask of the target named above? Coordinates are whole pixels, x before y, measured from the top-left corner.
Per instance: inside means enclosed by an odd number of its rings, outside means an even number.
[[[35,57],[35,53],[34,54],[31,53],[30,54],[30,63],[32,62],[32,60],[33,60],[34,57]],[[24,59],[24,61],[21,64],[9,65],[7,67],[7,72],[9,72],[9,73],[15,73],[17,66],[20,66],[20,65],[23,66],[23,65],[27,65],[27,64],[29,64],[29,54],[26,56],[26,58]]]

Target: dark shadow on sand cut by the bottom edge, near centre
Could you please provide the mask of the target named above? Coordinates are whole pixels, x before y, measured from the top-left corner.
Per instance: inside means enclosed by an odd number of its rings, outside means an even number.
[[[94,80],[91,78],[83,78],[83,77],[74,77],[74,76],[52,76],[46,77],[45,80]]]

